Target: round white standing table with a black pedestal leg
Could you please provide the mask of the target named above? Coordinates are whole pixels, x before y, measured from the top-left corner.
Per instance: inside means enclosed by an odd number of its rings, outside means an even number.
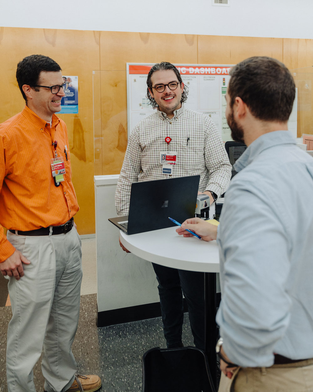
[[[144,260],[165,267],[205,272],[205,354],[216,387],[216,272],[219,272],[219,252],[216,241],[185,238],[175,227],[127,235],[120,230],[121,243]]]

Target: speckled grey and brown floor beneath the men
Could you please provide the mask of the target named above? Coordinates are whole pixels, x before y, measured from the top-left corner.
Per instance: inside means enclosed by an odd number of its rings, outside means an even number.
[[[79,326],[73,353],[81,374],[97,374],[102,379],[102,392],[141,392],[141,357],[152,347],[165,347],[160,318],[96,327],[96,294],[81,296]],[[5,350],[11,307],[0,307],[0,392],[7,392]],[[184,345],[193,345],[188,315],[183,326]],[[37,392],[43,391],[41,360],[34,368]]]

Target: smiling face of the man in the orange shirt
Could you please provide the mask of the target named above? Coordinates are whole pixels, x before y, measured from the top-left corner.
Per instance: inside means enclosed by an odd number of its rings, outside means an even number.
[[[38,79],[38,85],[41,86],[55,86],[62,85],[64,80],[62,78],[62,72],[41,72]],[[25,86],[25,85],[24,85]],[[50,89],[45,87],[38,87],[39,91],[34,89],[28,89],[27,106],[40,118],[50,122],[52,114],[57,113],[61,110],[61,98],[65,96],[63,89],[61,88],[57,94],[52,94]]]

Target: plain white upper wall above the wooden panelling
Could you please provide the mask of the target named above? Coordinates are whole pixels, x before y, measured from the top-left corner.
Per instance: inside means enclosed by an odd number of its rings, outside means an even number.
[[[313,38],[312,0],[2,0],[0,26]]]

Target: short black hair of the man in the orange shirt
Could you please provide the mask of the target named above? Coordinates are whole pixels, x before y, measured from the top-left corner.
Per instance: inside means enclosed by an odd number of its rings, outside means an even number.
[[[23,58],[17,65],[16,80],[18,87],[20,87],[23,98],[27,102],[26,95],[22,89],[24,84],[31,87],[39,83],[39,76],[41,72],[58,72],[61,67],[52,58],[43,56],[42,54],[32,54]],[[35,91],[39,91],[38,87],[33,87]]]

